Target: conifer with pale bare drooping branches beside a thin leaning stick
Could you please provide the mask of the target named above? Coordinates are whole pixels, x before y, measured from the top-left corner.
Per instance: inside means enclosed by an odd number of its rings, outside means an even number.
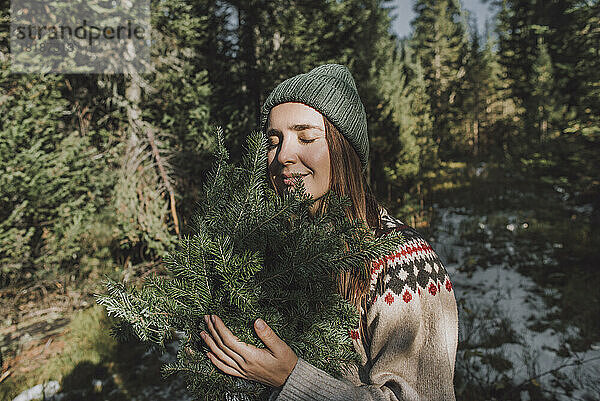
[[[212,140],[210,90],[196,58],[206,21],[184,0],[153,2],[152,63],[143,75],[101,76],[122,144],[112,196],[126,254],[162,257],[192,213]],[[160,96],[157,96],[160,94]],[[108,117],[108,116],[107,116]]]

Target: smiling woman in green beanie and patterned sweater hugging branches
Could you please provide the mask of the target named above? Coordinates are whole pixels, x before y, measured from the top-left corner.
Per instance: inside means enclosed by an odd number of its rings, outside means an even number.
[[[454,400],[458,318],[452,284],[427,241],[378,207],[363,172],[369,142],[364,107],[347,68],[322,65],[282,82],[262,108],[269,137],[268,172],[281,193],[301,175],[319,199],[329,189],[351,199],[347,215],[377,234],[400,230],[406,242],[372,261],[369,282],[339,277],[340,293],[361,319],[350,333],[361,366],[338,380],[292,351],[257,319],[266,348],[239,341],[218,316],[202,338],[221,371],[274,387],[271,400]],[[321,198],[315,210],[326,207]]]

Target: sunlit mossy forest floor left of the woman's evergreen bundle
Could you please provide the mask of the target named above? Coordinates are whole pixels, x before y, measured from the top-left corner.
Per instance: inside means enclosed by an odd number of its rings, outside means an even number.
[[[60,383],[60,392],[46,393],[47,400],[189,398],[181,379],[161,377],[171,355],[111,336],[114,321],[95,304],[99,292],[97,278],[0,292],[0,401],[52,381]]]

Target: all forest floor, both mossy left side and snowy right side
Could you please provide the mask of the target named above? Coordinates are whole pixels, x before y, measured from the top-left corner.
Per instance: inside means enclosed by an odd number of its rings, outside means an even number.
[[[428,237],[460,313],[460,400],[593,400],[600,388],[600,275],[586,199],[501,166],[448,166]],[[129,272],[131,273],[131,272]],[[141,271],[134,273],[141,274]],[[138,277],[139,277],[138,274]],[[0,291],[0,401],[51,380],[54,400],[186,400],[162,354],[118,344],[100,280]]]

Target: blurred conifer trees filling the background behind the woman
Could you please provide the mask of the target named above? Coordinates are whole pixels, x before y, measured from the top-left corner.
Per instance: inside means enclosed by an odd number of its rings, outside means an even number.
[[[393,214],[427,231],[449,189],[478,205],[513,180],[558,187],[591,205],[573,248],[591,271],[600,4],[489,3],[482,33],[459,0],[416,0],[412,33],[398,38],[387,0],[152,0],[143,75],[11,74],[1,30],[0,289],[159,264],[195,208],[214,127],[239,159],[269,91],[322,63],[356,79],[369,181]],[[482,165],[497,181],[477,181]]]

